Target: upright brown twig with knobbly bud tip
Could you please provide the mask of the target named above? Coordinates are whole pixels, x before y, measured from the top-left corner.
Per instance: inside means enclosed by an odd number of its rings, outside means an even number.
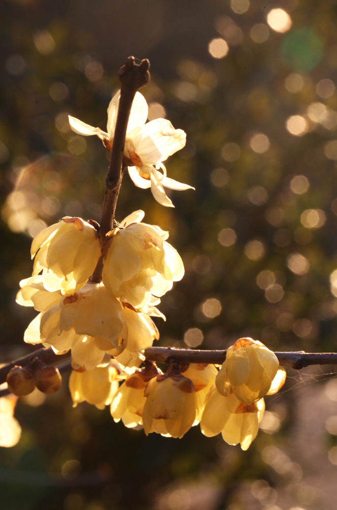
[[[119,71],[118,76],[121,83],[118,114],[114,133],[114,140],[111,150],[111,160],[106,179],[106,191],[103,201],[103,211],[98,230],[98,239],[102,248],[101,257],[91,276],[91,281],[101,281],[103,258],[105,257],[106,235],[113,228],[116,204],[119,189],[123,179],[123,155],[127,122],[131,112],[132,103],[137,90],[146,85],[150,80],[148,71],[150,63],[147,59],[135,64],[134,57],[129,57]]]

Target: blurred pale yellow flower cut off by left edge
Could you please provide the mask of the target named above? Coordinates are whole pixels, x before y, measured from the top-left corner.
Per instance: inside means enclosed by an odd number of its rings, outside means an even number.
[[[0,390],[7,388],[6,382],[0,385]],[[21,427],[14,418],[17,397],[6,395],[0,398],[0,446],[10,448],[15,446],[21,437]]]

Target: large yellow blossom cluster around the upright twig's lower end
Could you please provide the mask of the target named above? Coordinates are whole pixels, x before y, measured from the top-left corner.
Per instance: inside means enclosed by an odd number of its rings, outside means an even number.
[[[33,276],[17,294],[19,304],[40,312],[25,342],[71,349],[73,364],[89,371],[106,353],[123,367],[140,365],[142,351],[159,338],[151,316],[165,319],[155,305],[184,274],[168,233],[143,217],[136,211],[109,233],[101,283],[89,279],[101,253],[90,223],[66,217],[35,237]]]

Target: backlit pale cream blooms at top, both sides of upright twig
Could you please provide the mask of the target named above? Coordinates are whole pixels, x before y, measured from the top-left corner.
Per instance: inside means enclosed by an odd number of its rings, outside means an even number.
[[[115,134],[120,91],[111,99],[108,108],[107,133],[69,116],[71,129],[84,136],[97,135],[111,151]],[[183,191],[194,189],[187,184],[169,179],[163,161],[174,152],[185,147],[186,134],[174,129],[166,119],[155,119],[146,123],[147,103],[144,96],[137,92],[129,116],[124,147],[124,164],[134,184],[139,188],[151,188],[154,198],[166,207],[174,207],[164,188]],[[160,169],[163,173],[161,173]]]

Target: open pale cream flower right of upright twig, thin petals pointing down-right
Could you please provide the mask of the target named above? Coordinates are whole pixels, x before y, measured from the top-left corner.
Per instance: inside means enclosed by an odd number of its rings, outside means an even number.
[[[163,165],[163,161],[185,147],[185,144],[186,133],[174,129],[171,122],[166,119],[151,120],[143,127],[136,127],[128,133],[125,142],[124,156],[129,164],[131,179],[139,188],[151,188],[155,200],[166,207],[174,206],[164,187],[178,191],[194,189],[188,184],[169,179]]]

